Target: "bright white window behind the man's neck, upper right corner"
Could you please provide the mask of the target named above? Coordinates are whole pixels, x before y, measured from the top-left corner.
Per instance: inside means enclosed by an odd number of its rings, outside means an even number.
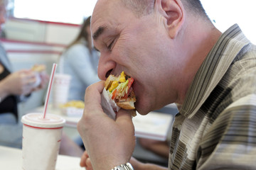
[[[255,0],[201,0],[214,25],[224,32],[234,23],[256,44]]]

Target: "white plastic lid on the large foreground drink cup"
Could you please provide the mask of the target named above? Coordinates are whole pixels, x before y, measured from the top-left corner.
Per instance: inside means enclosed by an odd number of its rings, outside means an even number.
[[[21,122],[38,128],[60,128],[65,124],[65,119],[48,113],[46,118],[43,118],[43,113],[28,113],[22,116]]]

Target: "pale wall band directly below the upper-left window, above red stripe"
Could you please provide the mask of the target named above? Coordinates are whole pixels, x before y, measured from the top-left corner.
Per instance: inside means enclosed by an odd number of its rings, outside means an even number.
[[[79,25],[10,18],[4,32],[9,40],[55,43],[68,45],[80,30]]]

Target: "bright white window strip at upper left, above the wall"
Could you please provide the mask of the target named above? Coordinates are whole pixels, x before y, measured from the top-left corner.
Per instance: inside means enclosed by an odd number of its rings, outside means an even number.
[[[80,24],[97,0],[15,0],[13,15],[40,21]]]

